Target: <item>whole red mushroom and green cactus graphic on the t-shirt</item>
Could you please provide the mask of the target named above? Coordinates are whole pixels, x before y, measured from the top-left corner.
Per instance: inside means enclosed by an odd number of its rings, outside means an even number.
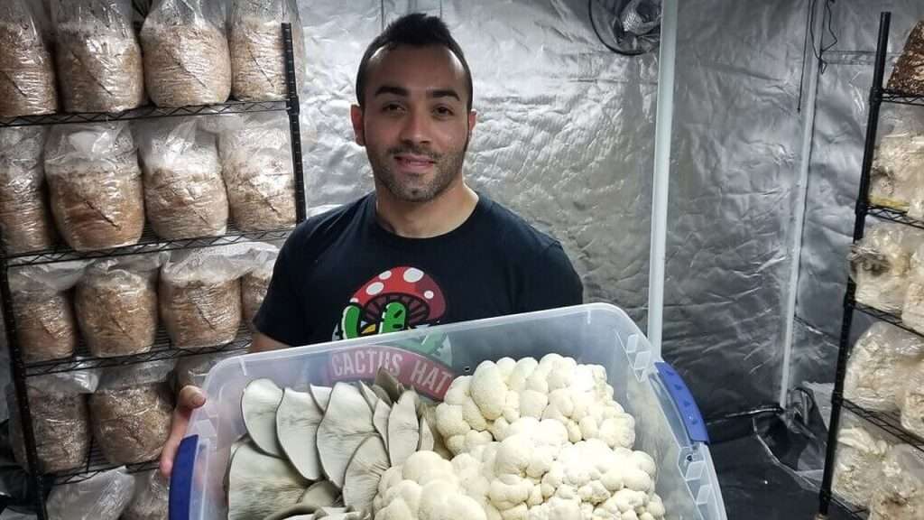
[[[417,267],[395,267],[369,280],[346,305],[335,337],[359,338],[439,323],[443,291]]]

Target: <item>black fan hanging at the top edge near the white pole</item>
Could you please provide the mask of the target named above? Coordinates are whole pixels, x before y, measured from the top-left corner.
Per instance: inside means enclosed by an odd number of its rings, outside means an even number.
[[[614,53],[638,56],[658,48],[661,0],[589,0],[590,25]]]

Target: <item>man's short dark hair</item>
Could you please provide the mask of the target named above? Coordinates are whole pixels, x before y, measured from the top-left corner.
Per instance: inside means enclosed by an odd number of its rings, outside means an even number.
[[[379,34],[369,47],[366,48],[366,54],[362,55],[362,61],[359,62],[359,72],[356,75],[356,97],[359,106],[363,106],[363,97],[366,90],[366,75],[369,72],[369,60],[379,49],[394,49],[399,45],[410,45],[412,47],[427,47],[430,45],[442,45],[448,48],[465,69],[466,84],[468,86],[468,110],[471,110],[472,104],[472,85],[471,69],[468,68],[468,61],[462,52],[462,47],[453,38],[446,27],[445,22],[438,17],[432,17],[423,13],[412,13],[396,19],[388,24],[385,31]]]

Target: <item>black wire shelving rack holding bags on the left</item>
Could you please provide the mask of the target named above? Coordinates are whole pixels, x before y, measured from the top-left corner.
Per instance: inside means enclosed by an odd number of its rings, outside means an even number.
[[[292,147],[292,166],[295,175],[296,224],[298,224],[306,218],[305,180],[302,164],[301,130],[299,126],[300,110],[298,84],[291,25],[288,23],[282,24],[282,31],[285,47],[284,57],[286,61],[287,95],[285,99],[247,103],[229,100],[221,104],[183,106],[178,108],[142,106],[140,108],[116,113],[69,113],[20,118],[0,118],[0,128],[127,121],[147,118],[208,117],[224,114],[285,112],[288,117],[289,136]],[[10,369],[17,398],[18,413],[21,417],[22,436],[25,442],[25,452],[29,467],[39,467],[35,432],[32,425],[32,415],[27,394],[28,380],[30,378],[91,368],[139,365],[203,353],[243,351],[249,345],[250,333],[248,328],[242,326],[237,333],[237,337],[228,343],[202,349],[185,350],[177,349],[171,345],[170,340],[162,329],[158,331],[157,340],[152,346],[152,349],[146,353],[117,357],[94,357],[89,353],[85,345],[80,344],[77,352],[65,359],[26,363],[22,357],[22,346],[17,339],[16,320],[12,312],[14,297],[9,286],[9,272],[11,269],[65,262],[69,260],[104,258],[128,254],[151,254],[179,249],[213,247],[243,241],[276,241],[286,239],[293,229],[294,228],[272,229],[255,232],[242,231],[229,227],[225,234],[221,236],[163,241],[160,240],[150,228],[146,228],[140,241],[137,243],[107,250],[75,251],[67,246],[58,245],[50,250],[32,251],[25,254],[7,254],[4,251],[0,251],[0,303],[3,305],[2,309],[6,325],[6,342],[10,353]],[[129,473],[146,471],[153,469],[156,465],[155,461],[146,461],[140,464],[129,464],[127,470]],[[36,514],[38,514],[39,519],[45,520],[48,518],[45,500],[49,489],[54,486],[85,480],[114,467],[118,466],[107,462],[99,446],[95,441],[91,440],[89,454],[85,462],[79,467],[48,474],[28,472],[30,483],[35,488]]]

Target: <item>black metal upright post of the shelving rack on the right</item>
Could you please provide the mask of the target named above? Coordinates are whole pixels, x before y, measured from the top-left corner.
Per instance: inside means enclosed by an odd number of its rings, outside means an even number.
[[[882,78],[885,75],[885,54],[889,46],[889,24],[892,14],[881,13],[879,18],[879,40],[876,44],[876,63],[873,69],[872,87],[869,89],[869,114],[867,116],[866,142],[863,146],[863,166],[860,172],[860,187],[857,194],[856,220],[854,221],[854,243],[863,238],[866,217],[869,212],[869,171],[876,149],[876,132],[879,127],[879,111],[882,101]],[[844,317],[841,322],[841,338],[838,343],[837,371],[832,394],[831,424],[828,429],[828,445],[825,452],[824,476],[819,493],[819,514],[827,517],[832,502],[834,460],[837,452],[837,433],[841,423],[844,401],[844,378],[847,372],[847,358],[850,350],[850,329],[853,323],[854,295],[857,286],[848,280],[844,296]]]

